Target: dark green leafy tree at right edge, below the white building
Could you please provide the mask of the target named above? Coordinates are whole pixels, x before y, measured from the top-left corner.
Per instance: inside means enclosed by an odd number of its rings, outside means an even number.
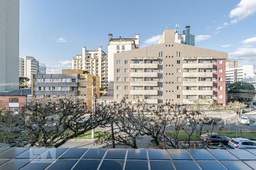
[[[253,84],[247,82],[236,82],[227,84],[228,101],[240,101],[249,103],[253,100],[256,91]]]

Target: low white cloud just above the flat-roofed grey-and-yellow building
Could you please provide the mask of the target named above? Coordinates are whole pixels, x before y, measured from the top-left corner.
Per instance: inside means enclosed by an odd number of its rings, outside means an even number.
[[[72,61],[59,61],[56,65],[47,66],[47,74],[59,74],[62,69],[72,69]]]

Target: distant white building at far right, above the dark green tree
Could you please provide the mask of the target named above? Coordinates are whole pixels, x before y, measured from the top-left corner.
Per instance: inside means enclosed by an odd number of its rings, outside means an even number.
[[[243,65],[241,67],[226,69],[226,82],[252,82],[253,81],[253,65]]]

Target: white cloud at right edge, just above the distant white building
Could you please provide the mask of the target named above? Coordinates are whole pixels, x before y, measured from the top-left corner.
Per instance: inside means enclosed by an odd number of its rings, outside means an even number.
[[[256,71],[256,48],[251,46],[242,46],[236,49],[234,52],[229,53],[229,59],[236,60],[240,65],[254,65],[254,71]]]

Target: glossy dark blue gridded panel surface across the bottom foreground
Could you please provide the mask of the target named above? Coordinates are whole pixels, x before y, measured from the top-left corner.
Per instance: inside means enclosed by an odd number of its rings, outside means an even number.
[[[0,169],[256,169],[256,150],[0,148]]]

